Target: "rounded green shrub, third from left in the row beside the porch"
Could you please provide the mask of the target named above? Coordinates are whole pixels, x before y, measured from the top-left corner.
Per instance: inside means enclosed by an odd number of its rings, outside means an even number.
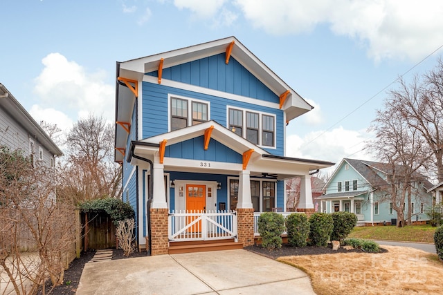
[[[332,216],[327,213],[314,213],[309,218],[309,241],[314,246],[326,246],[334,229]]]

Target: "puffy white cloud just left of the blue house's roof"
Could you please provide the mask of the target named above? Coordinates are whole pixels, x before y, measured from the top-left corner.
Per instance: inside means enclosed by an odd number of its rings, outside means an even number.
[[[42,63],[42,73],[35,78],[34,92],[41,99],[36,109],[52,108],[74,122],[85,113],[114,120],[115,88],[105,83],[107,73],[100,70],[89,73],[60,53],[47,55]]]

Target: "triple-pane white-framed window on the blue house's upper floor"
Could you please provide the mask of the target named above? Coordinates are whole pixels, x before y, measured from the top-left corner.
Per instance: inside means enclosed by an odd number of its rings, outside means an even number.
[[[228,128],[249,142],[275,146],[275,116],[228,108]]]

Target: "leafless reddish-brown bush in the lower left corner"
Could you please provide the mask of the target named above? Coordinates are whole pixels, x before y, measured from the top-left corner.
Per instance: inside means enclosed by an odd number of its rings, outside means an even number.
[[[16,294],[36,294],[48,278],[53,286],[63,282],[75,253],[74,208],[66,196],[56,198],[54,169],[33,167],[6,147],[0,166],[0,272]]]

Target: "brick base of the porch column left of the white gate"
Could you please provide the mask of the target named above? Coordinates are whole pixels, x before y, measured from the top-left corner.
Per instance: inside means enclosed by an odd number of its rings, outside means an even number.
[[[168,254],[168,209],[151,208],[151,255]]]

